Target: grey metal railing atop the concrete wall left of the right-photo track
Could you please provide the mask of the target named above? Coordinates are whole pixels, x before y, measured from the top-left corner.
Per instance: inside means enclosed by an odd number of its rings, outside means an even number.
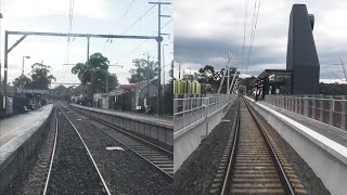
[[[235,99],[236,94],[174,99],[174,131],[206,118],[209,114],[219,110]]]

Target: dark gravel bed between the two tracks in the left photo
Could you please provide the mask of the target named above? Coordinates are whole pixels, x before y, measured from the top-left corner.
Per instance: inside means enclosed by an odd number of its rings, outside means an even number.
[[[83,138],[113,194],[172,194],[174,181],[159,170],[127,148],[125,151],[105,148],[124,147],[95,128],[108,127],[93,122],[87,117],[76,116],[73,112],[66,114]],[[94,127],[90,126],[91,122]]]

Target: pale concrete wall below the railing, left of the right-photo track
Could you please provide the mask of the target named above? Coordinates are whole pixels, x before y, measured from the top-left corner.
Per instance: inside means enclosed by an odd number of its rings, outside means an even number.
[[[201,118],[174,133],[174,172],[198,147],[201,141],[221,122],[234,101],[235,99],[220,109],[210,113],[207,117]]]

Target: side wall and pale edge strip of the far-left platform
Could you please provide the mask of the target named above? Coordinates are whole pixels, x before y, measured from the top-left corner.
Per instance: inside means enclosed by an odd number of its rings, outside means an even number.
[[[47,110],[47,115],[38,118],[31,126],[27,127],[25,133],[1,146],[0,153],[0,194],[5,191],[18,170],[27,162],[27,158],[35,153],[36,146],[41,141],[42,131],[48,127],[53,106]],[[20,132],[21,133],[21,132]],[[18,143],[20,144],[18,146]]]

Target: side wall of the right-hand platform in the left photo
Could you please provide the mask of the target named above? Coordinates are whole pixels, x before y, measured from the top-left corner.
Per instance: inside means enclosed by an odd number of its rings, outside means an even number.
[[[127,131],[133,131],[143,135],[146,135],[151,139],[157,140],[164,144],[174,145],[174,127],[155,122],[151,120],[144,120],[141,118],[129,117],[129,116],[123,116],[118,115],[116,113],[102,110],[102,109],[94,109],[91,107],[85,107],[79,105],[70,104],[73,108],[82,112],[86,115],[95,117],[98,119],[101,119],[105,122],[108,122],[111,125],[115,125],[124,130]]]

